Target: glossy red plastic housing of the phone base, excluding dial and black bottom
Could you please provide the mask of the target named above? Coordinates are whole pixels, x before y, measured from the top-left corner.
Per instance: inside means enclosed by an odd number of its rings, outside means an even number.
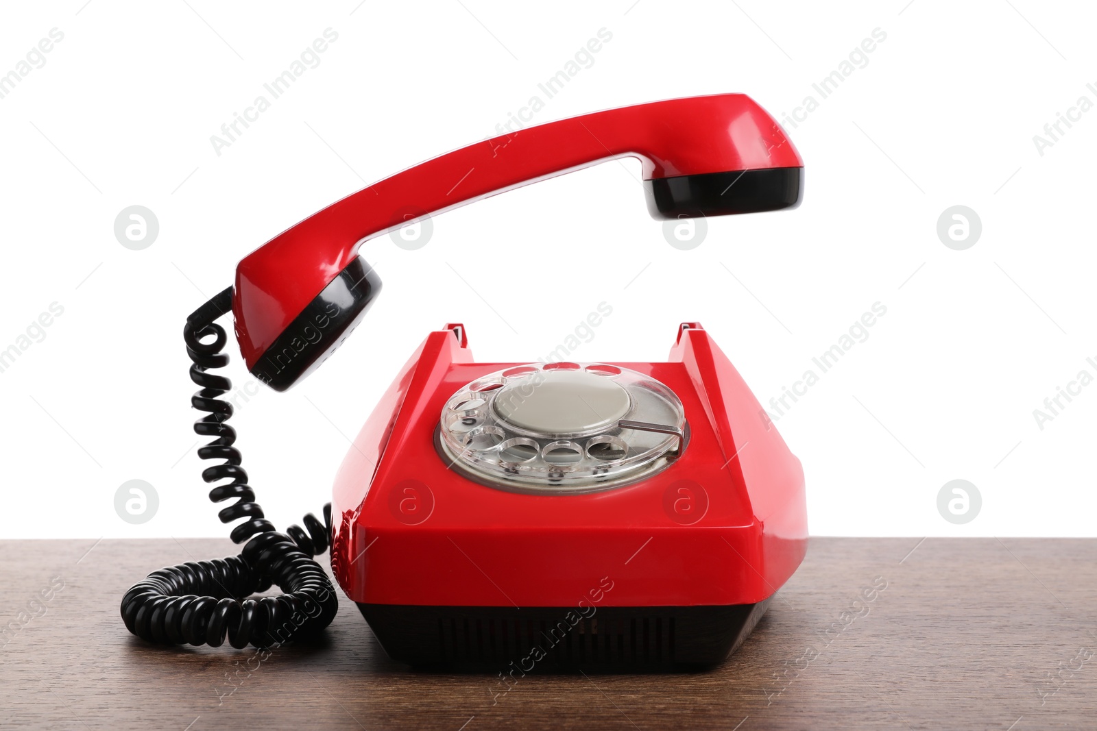
[[[422,606],[751,604],[807,545],[803,471],[727,357],[697,323],[667,363],[618,363],[681,399],[674,465],[604,492],[542,495],[473,482],[436,452],[446,399],[502,363],[474,363],[454,325],[428,335],[336,478],[331,566],[351,599]],[[461,328],[463,335],[464,329]]]

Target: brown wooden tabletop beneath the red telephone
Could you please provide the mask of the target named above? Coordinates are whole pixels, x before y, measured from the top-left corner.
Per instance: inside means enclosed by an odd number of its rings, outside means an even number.
[[[813,538],[715,671],[531,674],[494,704],[491,674],[389,661],[346,599],[323,643],[264,660],[126,632],[132,583],[227,540],[0,551],[0,728],[1097,728],[1097,540]]]

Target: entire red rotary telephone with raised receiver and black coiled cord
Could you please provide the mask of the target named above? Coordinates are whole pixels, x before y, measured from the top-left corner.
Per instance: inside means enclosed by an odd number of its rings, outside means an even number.
[[[761,617],[806,550],[803,472],[695,322],[667,363],[478,364],[464,327],[431,333],[370,416],[324,522],[279,533],[240,467],[227,364],[233,310],[248,369],[285,390],[349,334],[381,289],[367,238],[530,182],[632,156],[648,210],[672,219],[799,205],[803,163],[743,94],[552,122],[428,160],[306,218],[237,266],[184,328],[206,412],[202,473],[241,553],[154,572],[127,629],[235,648],[326,627],[332,573],[406,662],[712,664]],[[272,584],[284,593],[248,598]]]

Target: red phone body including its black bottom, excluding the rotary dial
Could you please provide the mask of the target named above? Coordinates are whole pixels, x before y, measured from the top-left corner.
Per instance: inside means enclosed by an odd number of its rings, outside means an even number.
[[[464,384],[521,365],[473,362],[460,324],[427,336],[336,478],[340,586],[412,663],[505,666],[533,647],[550,662],[722,661],[804,557],[800,460],[691,322],[667,363],[611,364],[681,399],[690,435],[672,466],[589,494],[477,484],[436,452],[439,412]],[[562,621],[570,631],[548,631]]]

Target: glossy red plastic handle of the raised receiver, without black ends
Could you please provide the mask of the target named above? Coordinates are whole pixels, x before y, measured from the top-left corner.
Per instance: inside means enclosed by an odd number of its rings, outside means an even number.
[[[233,310],[248,368],[364,239],[425,214],[620,157],[640,158],[646,180],[803,165],[780,126],[745,94],[596,112],[448,152],[309,216],[239,263]]]

